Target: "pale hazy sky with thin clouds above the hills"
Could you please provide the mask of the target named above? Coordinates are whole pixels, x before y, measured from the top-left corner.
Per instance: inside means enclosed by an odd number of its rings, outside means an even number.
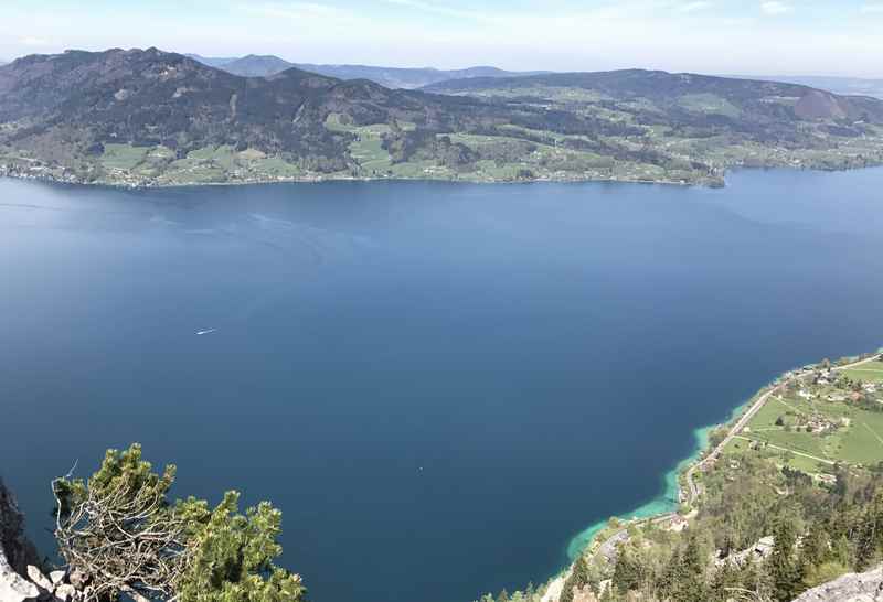
[[[883,0],[0,0],[0,58],[115,46],[304,63],[883,77]]]

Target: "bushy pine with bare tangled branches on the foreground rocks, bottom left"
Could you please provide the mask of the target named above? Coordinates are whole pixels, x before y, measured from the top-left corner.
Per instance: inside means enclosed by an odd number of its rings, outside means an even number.
[[[283,552],[278,509],[262,502],[241,514],[236,492],[214,508],[194,497],[173,503],[174,474],[172,465],[153,472],[136,443],[108,450],[87,481],[53,482],[62,556],[83,574],[100,569],[103,600],[124,592],[181,602],[305,598],[300,577],[275,565]]]

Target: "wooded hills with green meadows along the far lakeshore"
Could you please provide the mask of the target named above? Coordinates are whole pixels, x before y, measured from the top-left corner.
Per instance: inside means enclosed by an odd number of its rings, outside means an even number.
[[[118,186],[419,179],[722,185],[883,164],[883,100],[628,69],[390,89],[156,49],[0,67],[0,175]]]

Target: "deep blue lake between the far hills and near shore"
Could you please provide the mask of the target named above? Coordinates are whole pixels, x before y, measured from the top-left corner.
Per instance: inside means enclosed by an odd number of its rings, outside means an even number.
[[[694,429],[883,344],[881,191],[0,180],[0,473],[44,546],[50,480],[140,441],[280,507],[315,600],[539,582]]]

